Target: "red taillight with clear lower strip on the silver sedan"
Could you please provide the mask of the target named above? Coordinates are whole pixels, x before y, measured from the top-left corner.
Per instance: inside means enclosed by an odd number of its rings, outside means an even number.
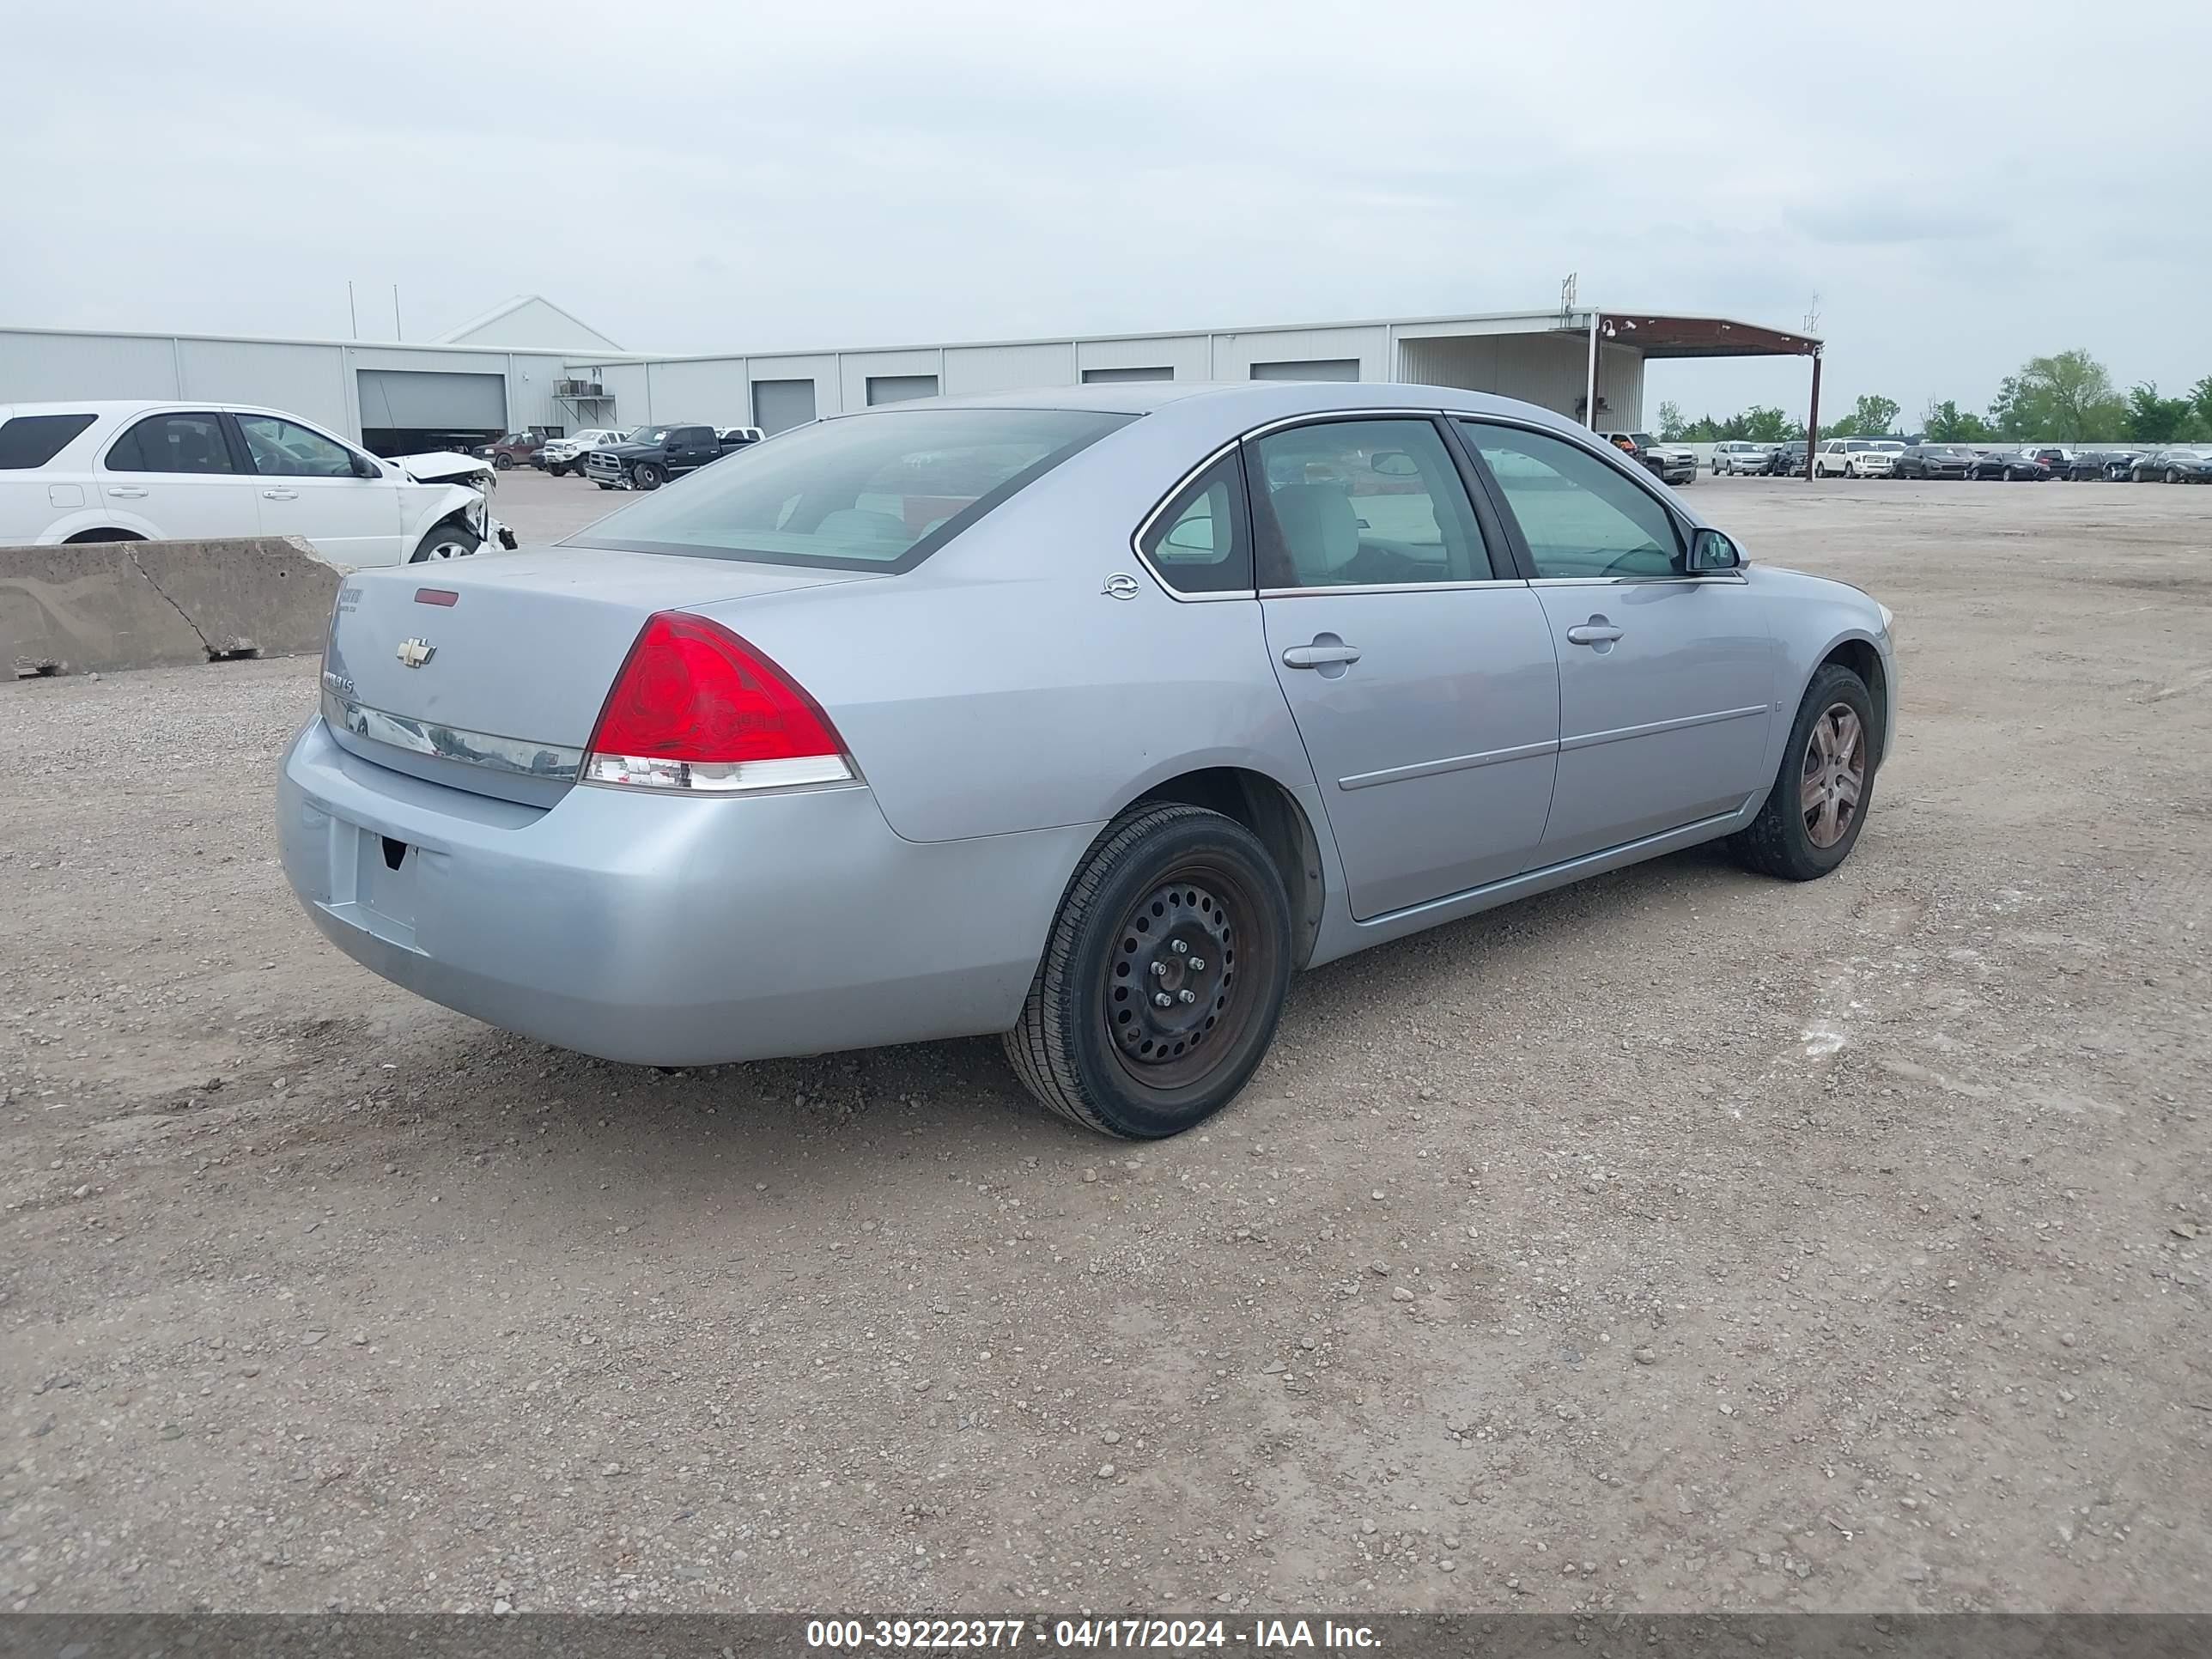
[[[584,783],[770,790],[852,779],[830,717],[719,622],[653,615],[615,675]]]

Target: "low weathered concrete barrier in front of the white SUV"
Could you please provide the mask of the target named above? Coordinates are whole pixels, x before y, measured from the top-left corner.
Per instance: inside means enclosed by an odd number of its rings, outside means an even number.
[[[0,546],[0,672],[292,657],[323,648],[336,597],[296,535]]]

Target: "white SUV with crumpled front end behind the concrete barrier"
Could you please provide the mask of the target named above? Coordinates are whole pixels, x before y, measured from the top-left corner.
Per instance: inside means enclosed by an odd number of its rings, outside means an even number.
[[[378,460],[299,416],[230,403],[0,405],[0,546],[301,535],[332,564],[515,546],[491,465]]]

